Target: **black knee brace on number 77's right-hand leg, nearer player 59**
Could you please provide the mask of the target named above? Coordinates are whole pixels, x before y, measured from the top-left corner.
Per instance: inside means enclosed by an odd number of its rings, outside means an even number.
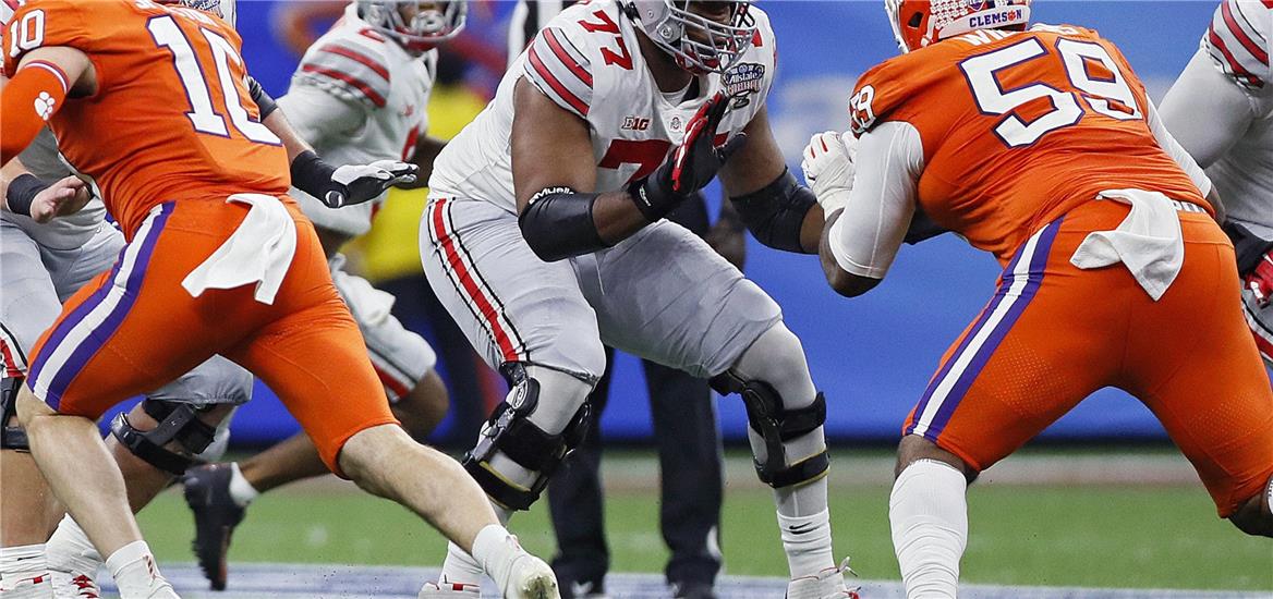
[[[765,441],[765,460],[756,459],[760,481],[774,488],[813,481],[830,468],[826,450],[787,465],[784,443],[805,436],[826,422],[826,398],[819,393],[813,403],[797,410],[783,408],[783,398],[763,380],[745,380],[733,373],[712,378],[721,394],[737,393],[747,408],[747,423]]]

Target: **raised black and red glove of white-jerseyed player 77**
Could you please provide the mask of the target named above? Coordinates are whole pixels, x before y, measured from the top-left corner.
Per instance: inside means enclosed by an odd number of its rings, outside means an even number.
[[[636,210],[654,223],[682,201],[707,187],[733,153],[747,142],[745,134],[715,145],[717,127],[724,117],[728,98],[717,93],[694,113],[685,126],[685,140],[649,177],[628,186]]]

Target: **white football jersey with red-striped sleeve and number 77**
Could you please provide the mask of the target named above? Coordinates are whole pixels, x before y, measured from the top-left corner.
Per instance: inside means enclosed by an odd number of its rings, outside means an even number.
[[[756,6],[750,10],[757,32],[742,60],[676,94],[659,92],[636,42],[643,33],[615,0],[561,11],[513,62],[495,99],[434,162],[430,196],[484,200],[517,212],[509,140],[513,86],[522,78],[588,122],[596,192],[621,189],[658,168],[684,140],[686,122],[717,92],[732,98],[718,135],[742,131],[764,107],[777,56],[769,18]]]

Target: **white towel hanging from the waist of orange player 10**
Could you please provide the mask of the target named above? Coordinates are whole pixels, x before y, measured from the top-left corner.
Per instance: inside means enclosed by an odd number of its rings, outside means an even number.
[[[236,193],[225,202],[248,205],[247,216],[229,239],[181,281],[199,298],[209,289],[234,289],[256,284],[255,298],[272,304],[297,253],[297,224],[279,198]]]

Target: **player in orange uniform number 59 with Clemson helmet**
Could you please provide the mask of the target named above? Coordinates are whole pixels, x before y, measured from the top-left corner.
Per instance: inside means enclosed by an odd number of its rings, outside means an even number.
[[[1222,518],[1273,535],[1273,390],[1234,249],[1127,60],[1090,29],[1026,31],[1026,0],[886,9],[904,53],[858,79],[855,160],[835,132],[806,148],[827,281],[875,287],[917,205],[1004,265],[903,430],[908,596],[956,595],[967,483],[1104,387],[1153,411]]]

